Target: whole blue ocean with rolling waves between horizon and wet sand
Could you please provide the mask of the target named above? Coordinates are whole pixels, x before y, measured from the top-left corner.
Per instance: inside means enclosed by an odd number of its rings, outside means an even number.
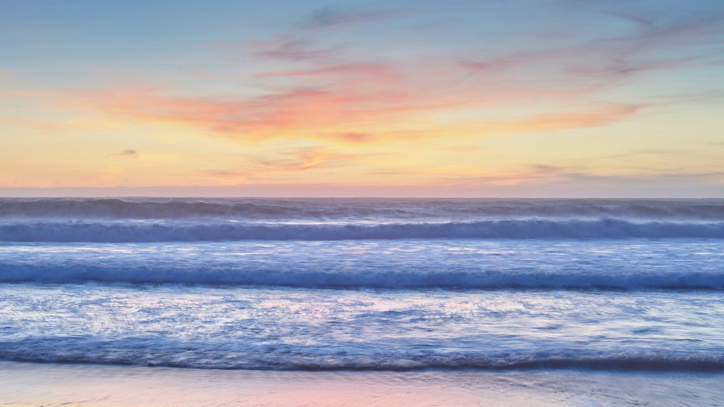
[[[723,292],[724,200],[0,199],[4,369],[709,383]]]

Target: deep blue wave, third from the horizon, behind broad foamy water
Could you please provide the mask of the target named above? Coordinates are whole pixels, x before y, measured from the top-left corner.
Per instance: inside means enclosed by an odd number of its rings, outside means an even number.
[[[297,266],[298,267],[298,266]],[[230,286],[287,286],[297,288],[460,288],[460,289],[707,289],[724,290],[723,271],[601,273],[579,270],[539,271],[390,271],[390,270],[243,270],[239,267],[153,267],[152,265],[35,265],[1,262],[0,282],[178,283]]]

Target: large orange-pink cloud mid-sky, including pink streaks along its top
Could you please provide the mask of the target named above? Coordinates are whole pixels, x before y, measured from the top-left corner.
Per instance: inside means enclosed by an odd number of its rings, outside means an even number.
[[[485,78],[461,85],[457,72],[401,75],[378,64],[266,74],[268,77],[282,75],[311,76],[319,80],[311,83],[311,87],[256,98],[178,98],[167,95],[162,88],[87,92],[77,97],[87,108],[130,119],[190,125],[234,140],[295,137],[359,143],[384,140],[371,134],[392,134],[400,129],[422,134],[439,128],[435,121],[448,113],[465,112],[466,119],[449,126],[468,127],[473,131],[480,125],[480,120],[474,118],[479,114],[477,111],[485,113],[489,108],[510,103],[529,106],[565,103],[600,90],[588,85],[568,89],[514,89],[489,84]],[[626,113],[623,111],[626,109],[620,110],[616,113],[619,118]],[[634,111],[628,109],[628,114]],[[555,130],[601,126],[610,114],[608,111],[570,115],[564,111],[557,116],[531,113],[527,119],[508,121],[502,127]]]

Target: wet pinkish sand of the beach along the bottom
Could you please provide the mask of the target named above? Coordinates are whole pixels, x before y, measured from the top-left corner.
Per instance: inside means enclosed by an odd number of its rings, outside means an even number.
[[[282,372],[0,362],[0,406],[714,406],[724,373]],[[666,404],[668,403],[668,404]]]

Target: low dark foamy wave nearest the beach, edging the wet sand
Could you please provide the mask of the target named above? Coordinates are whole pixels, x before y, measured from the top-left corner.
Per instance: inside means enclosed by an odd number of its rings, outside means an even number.
[[[146,343],[146,342],[144,342]],[[48,343],[1,343],[0,359],[41,363],[125,364],[193,369],[247,369],[287,371],[416,371],[442,370],[522,370],[522,369],[586,369],[624,372],[723,372],[722,354],[667,354],[620,352],[618,354],[376,354],[319,355],[274,354],[249,351],[224,354],[218,349],[150,348],[140,344],[108,343],[91,345],[81,350],[70,343],[64,348],[50,348]],[[127,348],[124,346],[126,345]]]

